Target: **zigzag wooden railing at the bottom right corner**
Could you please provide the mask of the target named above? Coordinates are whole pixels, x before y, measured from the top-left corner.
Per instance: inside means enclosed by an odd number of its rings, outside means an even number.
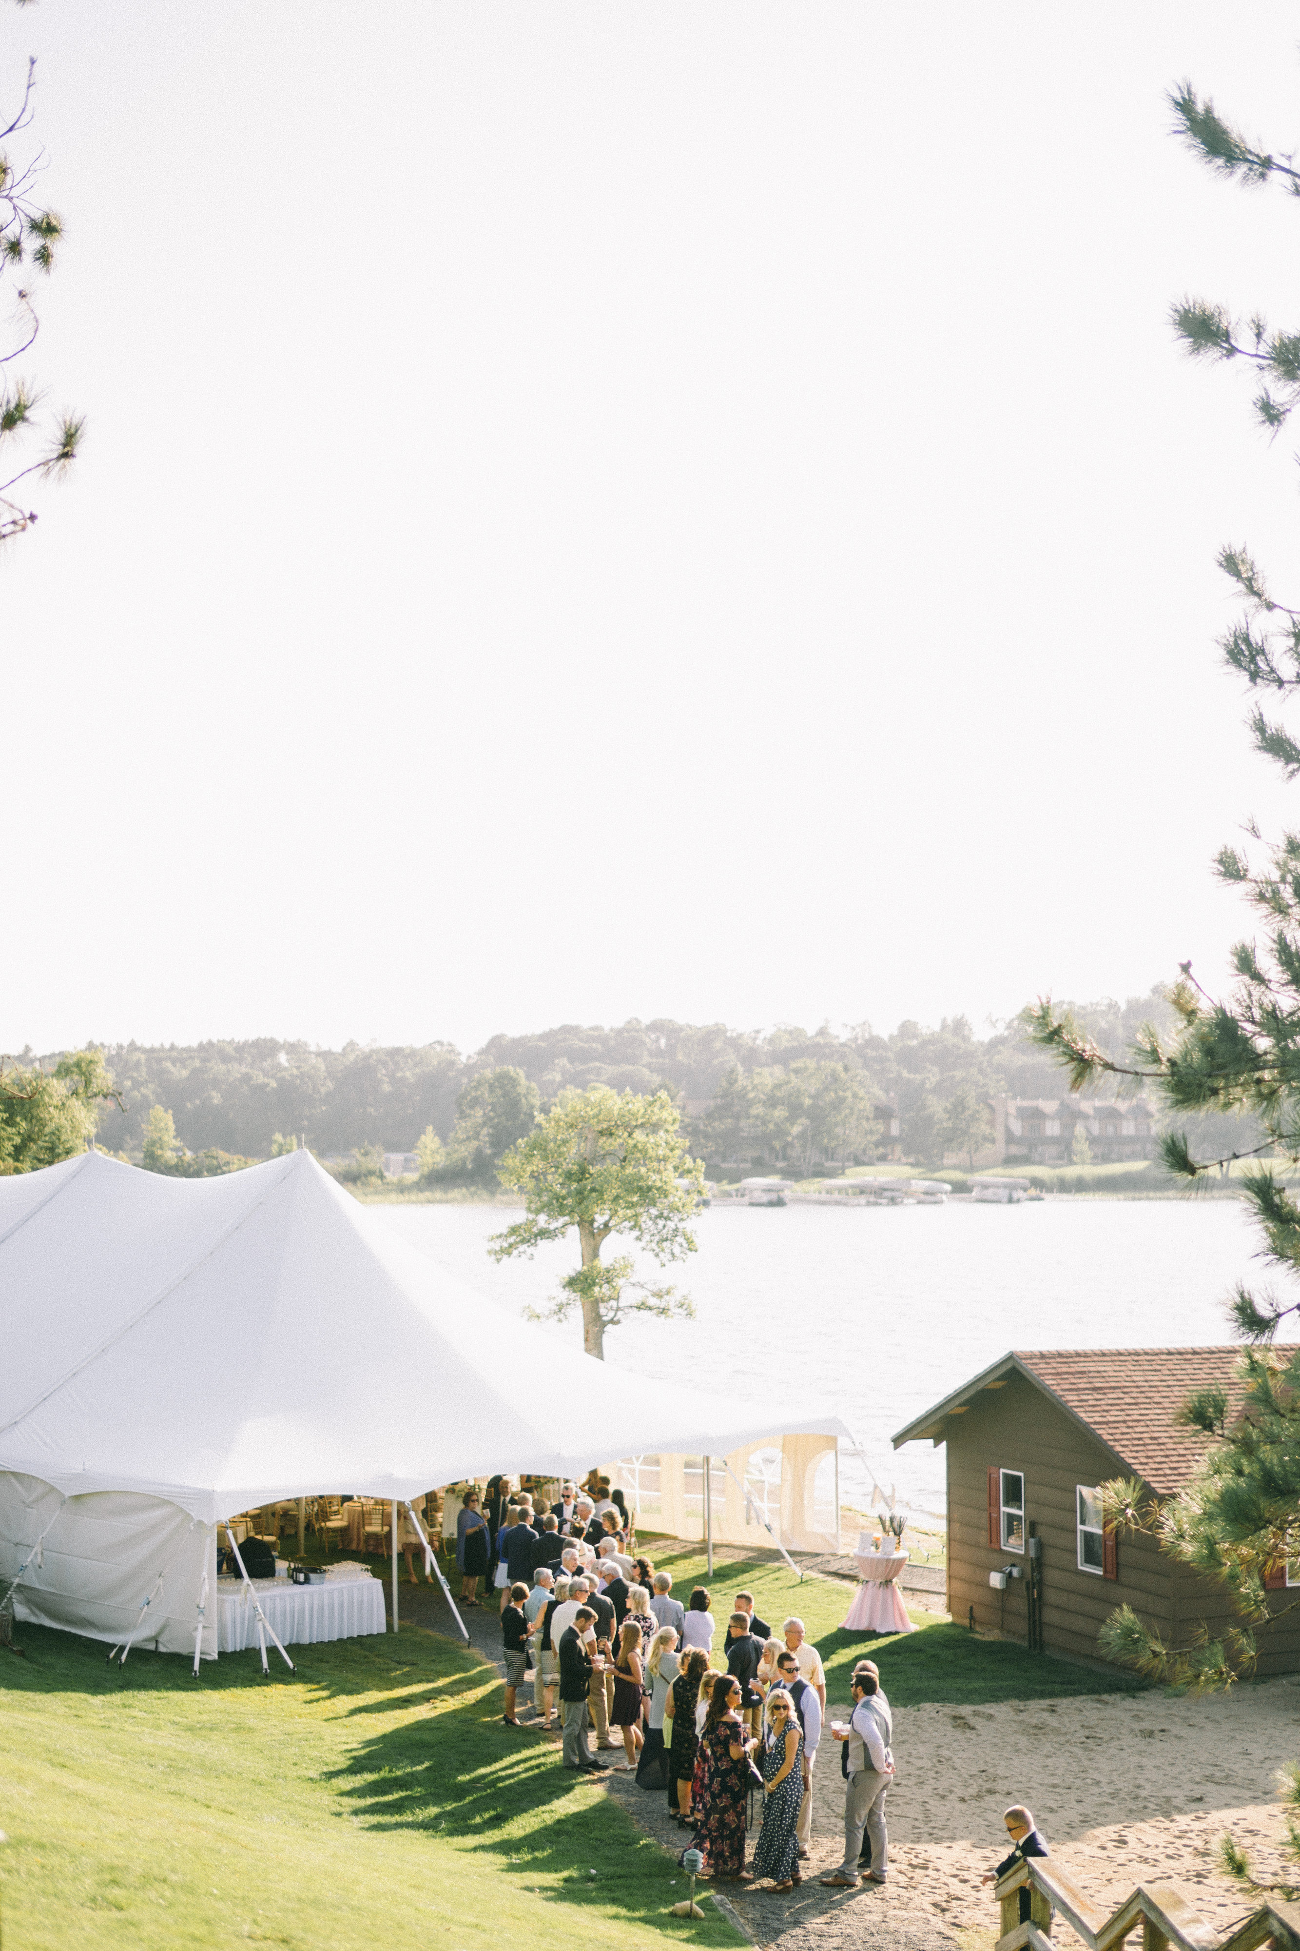
[[[1019,1922],[1019,1892],[1029,1887],[1029,1922]],[[1002,1902],[1002,1935],[996,1951],[1054,1951],[1052,1912],[1088,1945],[1119,1951],[1130,1931],[1142,1930],[1142,1951],[1300,1951],[1300,1904],[1269,1900],[1226,1935],[1193,1910],[1171,1883],[1140,1883],[1109,1916],[1080,1891],[1074,1877],[1051,1857],[1017,1863],[996,1887]]]

